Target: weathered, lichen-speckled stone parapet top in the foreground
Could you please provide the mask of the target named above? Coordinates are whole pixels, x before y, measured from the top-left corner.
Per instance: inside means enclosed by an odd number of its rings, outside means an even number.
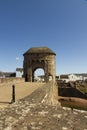
[[[87,111],[41,103],[46,88],[1,109],[0,130],[86,130]]]

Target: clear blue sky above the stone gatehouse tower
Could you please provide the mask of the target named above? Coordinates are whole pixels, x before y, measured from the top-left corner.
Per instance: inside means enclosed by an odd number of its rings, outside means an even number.
[[[0,70],[23,66],[30,47],[56,53],[56,74],[87,72],[86,0],[0,0]]]

